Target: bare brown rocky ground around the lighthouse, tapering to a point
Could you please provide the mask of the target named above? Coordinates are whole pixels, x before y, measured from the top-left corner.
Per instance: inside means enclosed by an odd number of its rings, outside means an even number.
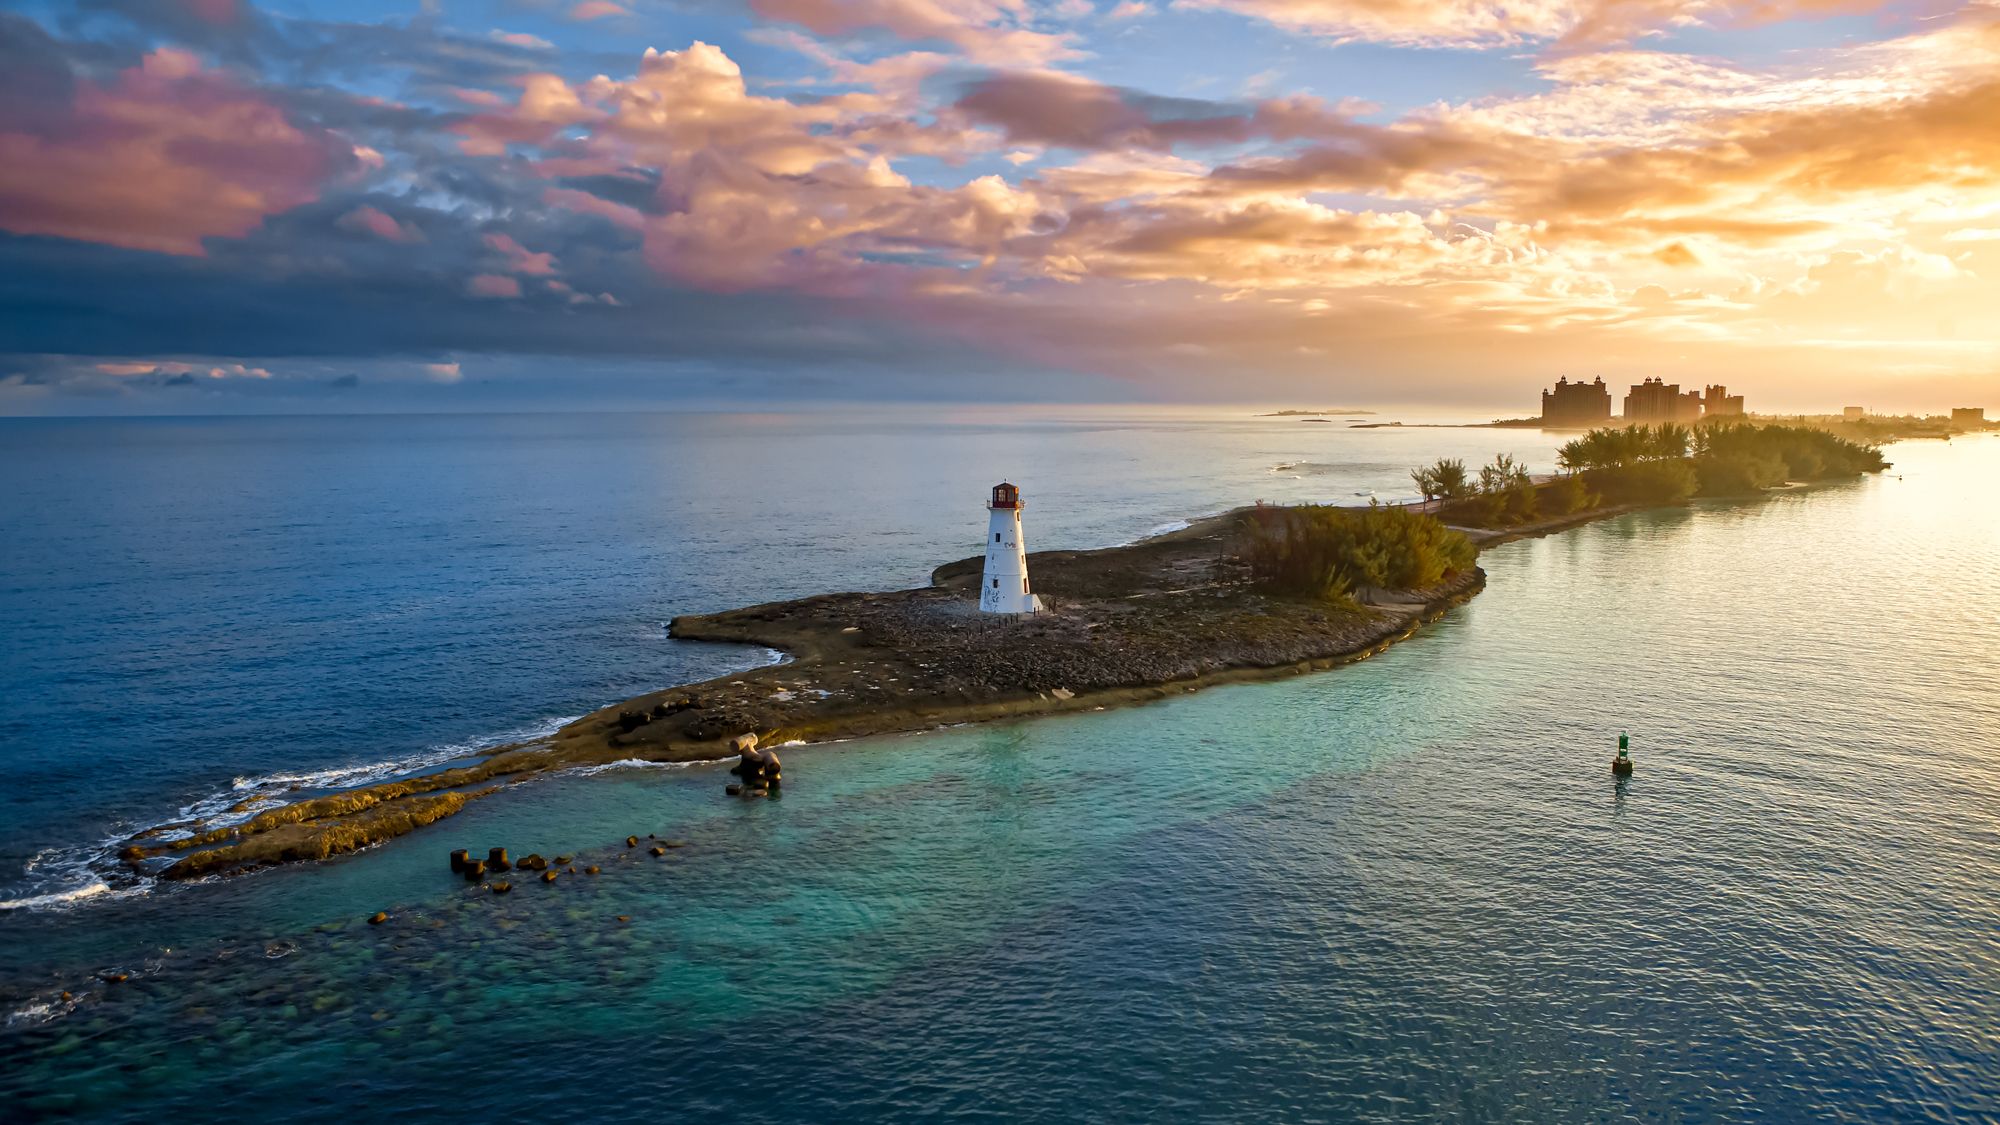
[[[738,735],[764,747],[824,743],[1330,669],[1380,653],[1486,581],[1472,567],[1424,591],[1358,591],[1358,607],[1270,597],[1228,550],[1236,514],[1126,546],[1032,554],[1048,605],[1038,617],[976,613],[978,556],[938,567],[922,589],[678,617],[676,639],[760,645],[792,661],[640,695],[466,767],[302,799],[240,825],[156,829],[122,859],[166,879],[328,859],[558,769],[722,761],[736,757]],[[1560,522],[1602,514],[1614,512]]]

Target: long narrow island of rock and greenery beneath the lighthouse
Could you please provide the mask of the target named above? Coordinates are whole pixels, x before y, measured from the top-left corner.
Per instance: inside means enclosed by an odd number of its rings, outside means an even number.
[[[1598,430],[1532,478],[1500,456],[1412,472],[1420,504],[1254,504],[1102,550],[1026,556],[1040,613],[978,609],[982,556],[920,589],[832,593],[670,623],[684,641],[790,661],[666,687],[480,761],[128,841],[136,871],[190,879],[358,851],[548,771],[694,763],[958,723],[1092,711],[1368,659],[1472,599],[1476,550],[1696,494],[1880,472],[1864,444],[1806,426]],[[1010,486],[1008,486],[1010,488]],[[998,490],[996,490],[998,492]],[[746,739],[754,737],[754,739]],[[760,751],[758,751],[760,753]]]

